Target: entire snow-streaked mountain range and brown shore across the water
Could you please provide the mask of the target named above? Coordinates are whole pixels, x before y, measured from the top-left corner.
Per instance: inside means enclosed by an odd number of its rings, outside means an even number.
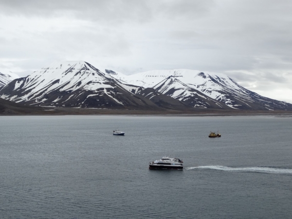
[[[5,105],[2,113],[292,112],[292,104],[249,91],[222,73],[177,69],[125,75],[112,70],[101,72],[85,61],[65,61],[55,62],[27,77],[17,77],[0,74],[0,104]]]

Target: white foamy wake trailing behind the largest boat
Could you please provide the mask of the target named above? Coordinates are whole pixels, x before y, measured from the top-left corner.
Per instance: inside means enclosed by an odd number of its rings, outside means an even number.
[[[281,168],[271,168],[271,167],[229,167],[229,166],[195,166],[186,167],[186,170],[197,170],[197,169],[213,169],[226,172],[256,172],[256,173],[284,173],[292,174],[292,169],[281,169]]]

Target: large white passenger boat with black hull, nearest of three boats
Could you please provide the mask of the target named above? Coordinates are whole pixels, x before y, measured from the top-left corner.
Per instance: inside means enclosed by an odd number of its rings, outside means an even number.
[[[183,169],[183,161],[178,158],[163,157],[149,162],[149,169]]]

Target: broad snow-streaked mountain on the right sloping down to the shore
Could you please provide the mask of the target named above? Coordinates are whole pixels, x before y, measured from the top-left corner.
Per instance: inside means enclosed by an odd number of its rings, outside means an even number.
[[[249,91],[222,73],[176,69],[111,75],[123,83],[153,88],[194,108],[292,110],[292,104]]]

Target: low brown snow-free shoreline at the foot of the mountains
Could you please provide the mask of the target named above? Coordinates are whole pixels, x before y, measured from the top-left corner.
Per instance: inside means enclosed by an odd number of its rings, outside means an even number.
[[[292,110],[239,110],[239,109],[164,109],[134,107],[127,109],[106,108],[66,108],[66,107],[32,107],[0,98],[0,116],[7,115],[131,115],[131,116],[232,116],[232,115],[278,115],[292,116]]]

